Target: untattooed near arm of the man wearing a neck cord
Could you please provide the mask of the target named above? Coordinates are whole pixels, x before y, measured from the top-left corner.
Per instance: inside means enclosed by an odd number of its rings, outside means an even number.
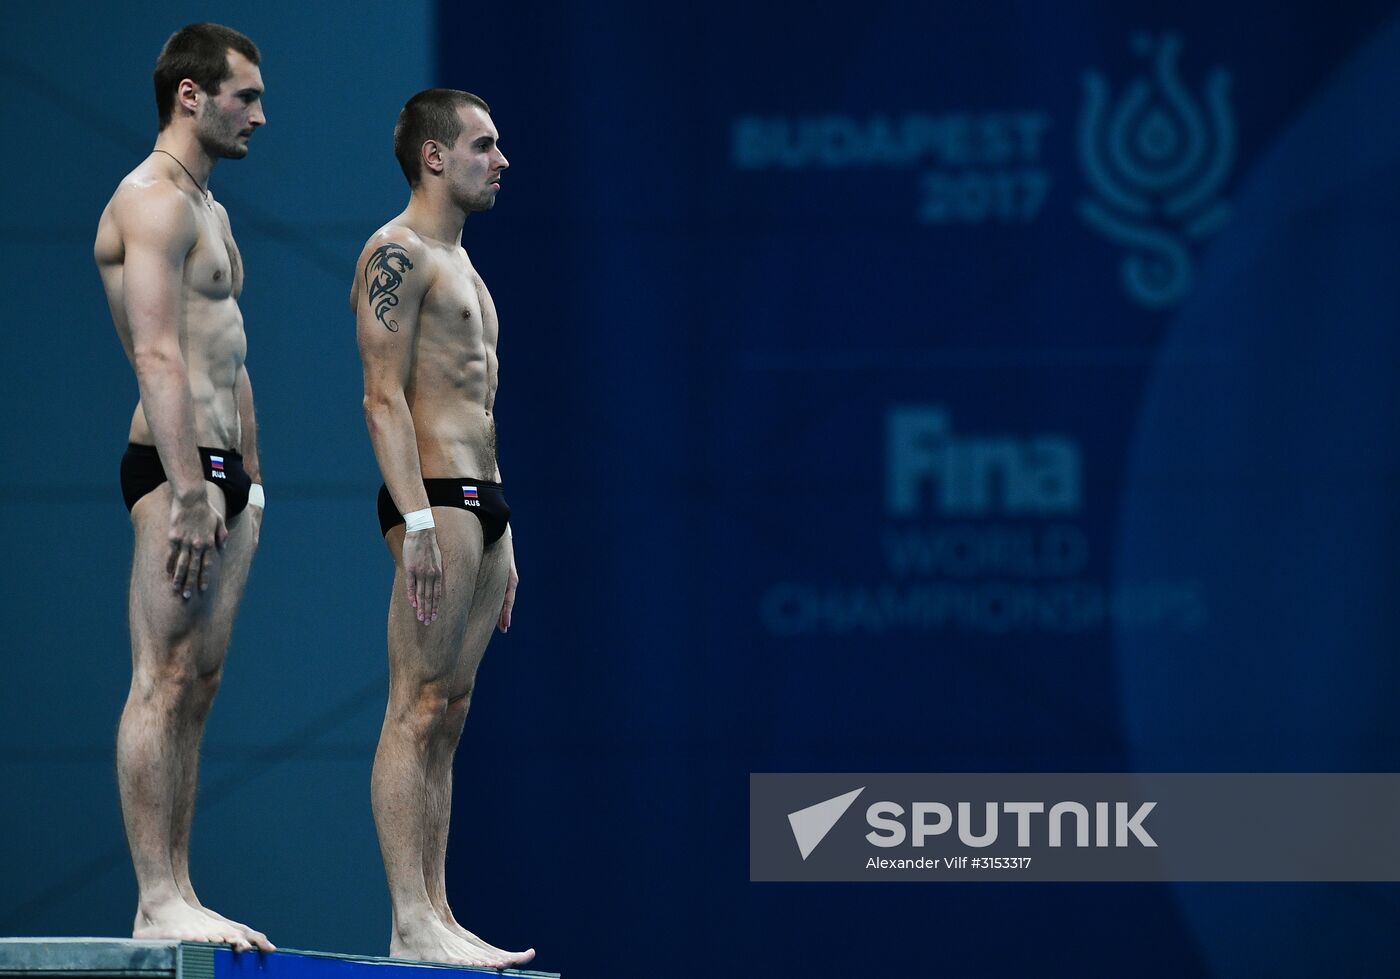
[[[132,364],[151,438],[171,485],[165,570],[185,598],[209,587],[209,573],[228,531],[209,503],[195,438],[195,408],[185,361],[185,261],[199,228],[185,195],[155,185],[120,204],[125,256],[122,303],[132,336]]]

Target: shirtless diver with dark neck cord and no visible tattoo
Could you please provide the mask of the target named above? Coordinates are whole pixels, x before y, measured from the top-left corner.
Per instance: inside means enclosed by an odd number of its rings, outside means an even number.
[[[263,494],[238,296],[244,269],[209,190],[263,125],[258,48],[192,24],[155,63],[155,148],[118,185],[94,256],[140,402],[122,457],[136,534],[132,689],[116,735],[139,888],[136,938],[273,945],[204,908],[189,881],[199,742],[258,548]]]

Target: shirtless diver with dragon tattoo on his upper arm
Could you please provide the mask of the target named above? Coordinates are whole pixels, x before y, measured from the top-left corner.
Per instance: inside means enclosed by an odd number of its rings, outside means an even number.
[[[519,580],[491,416],[500,331],[462,249],[468,214],[491,209],[507,162],[486,102],[447,88],[409,99],[393,151],[409,206],[365,244],[350,290],[385,483],[379,528],[395,562],[389,706],[371,784],[393,906],[389,954],[505,968],[535,950],[508,952],[458,924],[444,871],[452,755]]]

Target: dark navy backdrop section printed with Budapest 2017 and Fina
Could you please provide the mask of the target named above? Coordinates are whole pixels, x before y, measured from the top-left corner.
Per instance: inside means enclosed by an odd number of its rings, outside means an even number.
[[[440,10],[512,162],[466,232],[524,578],[458,768],[490,934],[1393,961],[1389,887],[749,884],[746,776],[1394,769],[1394,11]]]

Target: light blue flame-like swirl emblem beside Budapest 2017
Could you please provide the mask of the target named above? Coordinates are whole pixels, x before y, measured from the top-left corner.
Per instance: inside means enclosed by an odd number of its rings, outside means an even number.
[[[1079,216],[1128,249],[1120,266],[1128,296],[1162,310],[1191,286],[1187,242],[1215,234],[1229,216],[1217,195],[1235,162],[1231,77],[1208,74],[1203,106],[1177,74],[1180,38],[1138,34],[1133,49],[1151,60],[1151,76],[1112,108],[1105,77],[1084,76],[1079,158],[1098,199],[1081,202]]]

